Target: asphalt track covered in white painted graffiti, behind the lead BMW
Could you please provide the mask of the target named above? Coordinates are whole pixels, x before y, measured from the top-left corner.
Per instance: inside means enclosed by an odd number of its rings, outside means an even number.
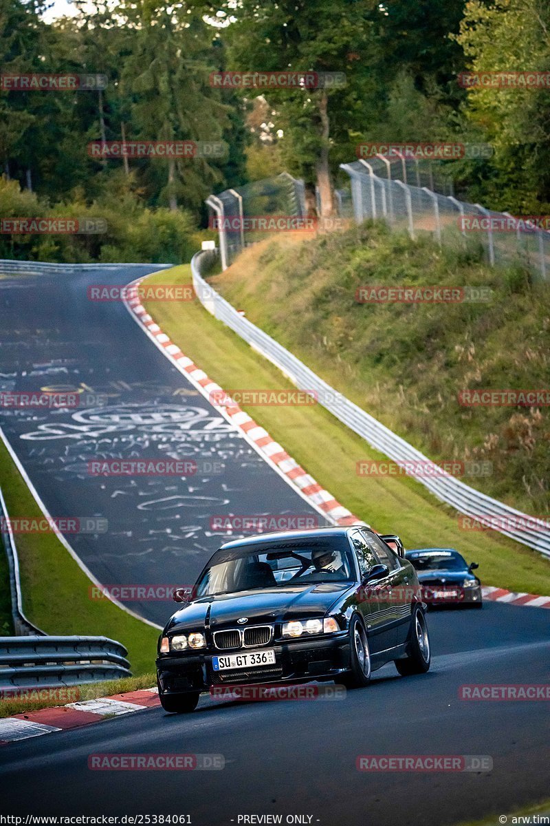
[[[103,586],[190,586],[238,531],[216,515],[326,520],[270,468],[139,329],[122,301],[92,301],[92,285],[124,285],[155,270],[69,270],[0,278],[0,392],[79,391],[78,407],[0,407],[0,421],[54,517],[100,517],[104,533],[65,534]],[[179,458],[197,472],[93,476],[94,459]],[[111,592],[118,593],[118,591]],[[92,593],[92,592],[91,592]],[[164,591],[159,591],[162,595]],[[169,599],[125,605],[157,624]]]

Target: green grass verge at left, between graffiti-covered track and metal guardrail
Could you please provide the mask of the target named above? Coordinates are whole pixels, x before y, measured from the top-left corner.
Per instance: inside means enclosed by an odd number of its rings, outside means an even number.
[[[42,516],[2,442],[0,486],[9,516]],[[97,634],[115,639],[128,648],[134,676],[151,672],[157,629],[107,599],[90,599],[90,580],[55,534],[18,534],[16,546],[23,609],[31,622],[47,634]]]

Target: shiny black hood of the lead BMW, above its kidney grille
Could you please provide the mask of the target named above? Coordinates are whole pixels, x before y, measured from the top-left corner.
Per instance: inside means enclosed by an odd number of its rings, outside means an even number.
[[[324,615],[331,605],[353,587],[350,582],[317,582],[309,586],[280,586],[263,591],[207,596],[190,602],[172,616],[166,631],[227,628],[246,617],[254,624],[281,622],[289,618]]]

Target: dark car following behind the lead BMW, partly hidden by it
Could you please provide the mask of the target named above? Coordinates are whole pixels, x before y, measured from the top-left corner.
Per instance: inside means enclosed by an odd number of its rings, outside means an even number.
[[[454,548],[418,548],[405,553],[416,568],[422,598],[427,605],[470,605],[482,608],[482,583]]]

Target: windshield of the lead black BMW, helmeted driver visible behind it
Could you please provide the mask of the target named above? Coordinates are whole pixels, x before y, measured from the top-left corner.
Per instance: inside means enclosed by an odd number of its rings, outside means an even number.
[[[353,579],[347,537],[220,550],[195,586],[197,597]]]

